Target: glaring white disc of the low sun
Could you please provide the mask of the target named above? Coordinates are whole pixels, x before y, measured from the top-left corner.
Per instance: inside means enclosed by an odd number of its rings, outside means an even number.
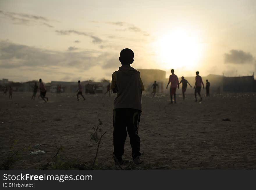
[[[202,56],[202,44],[198,36],[185,30],[175,30],[163,35],[154,43],[157,59],[168,69],[185,67],[193,69]]]

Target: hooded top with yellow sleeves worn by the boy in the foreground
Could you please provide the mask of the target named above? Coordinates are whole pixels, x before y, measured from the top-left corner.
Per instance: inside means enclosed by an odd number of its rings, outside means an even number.
[[[131,66],[119,67],[112,74],[111,89],[114,88],[117,90],[114,109],[133,108],[142,111],[141,92],[145,89],[140,72]]]

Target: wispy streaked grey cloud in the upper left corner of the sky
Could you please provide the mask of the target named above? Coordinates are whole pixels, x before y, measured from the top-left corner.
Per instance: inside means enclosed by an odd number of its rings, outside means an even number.
[[[0,14],[5,16],[6,18],[13,21],[13,24],[21,24],[21,25],[32,25],[35,23],[43,24],[49,28],[53,28],[52,25],[48,24],[50,20],[46,17],[33,15],[33,14],[24,14],[24,13],[15,13],[15,12],[4,12],[0,10]]]

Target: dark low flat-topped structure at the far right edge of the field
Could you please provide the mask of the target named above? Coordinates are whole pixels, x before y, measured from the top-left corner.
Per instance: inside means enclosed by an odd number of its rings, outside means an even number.
[[[256,92],[254,76],[224,77],[224,92]]]

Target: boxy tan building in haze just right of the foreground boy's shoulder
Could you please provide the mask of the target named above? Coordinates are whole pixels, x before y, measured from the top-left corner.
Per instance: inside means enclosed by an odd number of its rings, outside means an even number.
[[[157,92],[164,92],[166,82],[166,72],[159,69],[137,69],[140,72],[145,91],[152,91],[152,84],[157,81]]]

